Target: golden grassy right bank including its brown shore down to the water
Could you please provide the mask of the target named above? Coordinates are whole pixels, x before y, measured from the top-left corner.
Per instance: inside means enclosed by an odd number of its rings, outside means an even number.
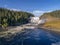
[[[38,27],[60,36],[60,20],[46,22],[43,26],[39,25]]]

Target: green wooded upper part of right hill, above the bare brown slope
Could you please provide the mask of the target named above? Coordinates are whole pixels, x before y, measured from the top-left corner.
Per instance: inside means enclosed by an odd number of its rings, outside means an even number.
[[[48,18],[48,17],[60,18],[60,10],[44,13],[42,16],[40,16],[40,18]]]

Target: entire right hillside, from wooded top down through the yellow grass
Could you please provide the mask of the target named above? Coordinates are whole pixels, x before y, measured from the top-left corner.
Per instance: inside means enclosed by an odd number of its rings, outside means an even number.
[[[60,32],[60,10],[44,13],[40,19],[47,19],[43,27]]]

